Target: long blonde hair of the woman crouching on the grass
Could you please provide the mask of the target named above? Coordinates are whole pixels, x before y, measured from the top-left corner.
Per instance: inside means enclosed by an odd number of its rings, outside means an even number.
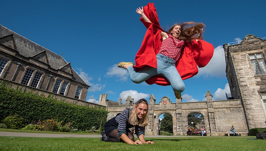
[[[147,112],[146,112],[146,114],[143,116],[142,119],[138,119],[138,118],[137,118],[136,110],[135,110],[135,108],[136,108],[140,103],[144,103],[144,104],[146,104],[147,107],[148,107],[148,108],[147,108]],[[135,103],[134,108],[133,108],[133,110],[132,110],[132,112],[131,112],[131,114],[130,114],[129,122],[130,122],[130,124],[133,125],[133,126],[136,126],[136,125],[138,125],[138,126],[147,126],[147,125],[148,125],[148,123],[149,123],[149,103],[148,103],[147,100],[145,100],[145,99],[140,99],[140,100],[138,100],[138,101]]]

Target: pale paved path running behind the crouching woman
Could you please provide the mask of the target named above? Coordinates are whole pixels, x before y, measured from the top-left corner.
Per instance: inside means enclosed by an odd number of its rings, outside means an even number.
[[[17,136],[17,137],[86,137],[86,138],[100,138],[101,135],[96,134],[49,134],[49,133],[23,133],[23,132],[8,132],[0,131],[0,136]],[[136,136],[135,136],[136,137]],[[189,137],[189,136],[172,136],[172,135],[145,135],[145,138],[149,137]],[[197,137],[197,136],[193,136]],[[202,136],[198,136],[202,137]],[[206,136],[205,136],[206,137]]]

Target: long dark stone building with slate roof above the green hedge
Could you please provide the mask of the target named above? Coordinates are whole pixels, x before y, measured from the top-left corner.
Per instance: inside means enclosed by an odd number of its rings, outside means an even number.
[[[45,96],[86,105],[88,88],[66,60],[0,25],[0,80]]]

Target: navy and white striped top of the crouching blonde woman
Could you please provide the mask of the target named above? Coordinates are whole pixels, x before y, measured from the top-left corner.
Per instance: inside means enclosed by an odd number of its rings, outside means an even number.
[[[130,116],[130,111],[132,111],[133,108],[131,109],[125,109],[124,111],[122,111],[121,114],[119,114],[118,116],[116,116],[115,120],[118,123],[118,135],[119,137],[122,134],[126,134],[126,129],[133,127],[133,125],[131,125],[129,123],[129,116]],[[145,134],[145,126],[135,126],[135,133],[137,135],[137,137],[139,137],[141,134]]]

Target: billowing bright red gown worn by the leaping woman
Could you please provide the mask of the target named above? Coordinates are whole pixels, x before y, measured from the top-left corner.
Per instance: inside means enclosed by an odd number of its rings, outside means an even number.
[[[141,47],[136,53],[134,69],[140,70],[145,66],[157,68],[156,54],[162,45],[161,31],[164,31],[157,16],[153,3],[148,3],[143,7],[145,15],[152,23],[145,22],[142,17],[140,21],[147,27]],[[185,42],[185,48],[182,50],[179,59],[176,62],[176,69],[181,78],[187,79],[198,74],[198,66],[204,67],[210,61],[213,55],[212,44],[196,40]],[[163,76],[153,76],[145,81],[148,84],[170,85],[168,80]]]

